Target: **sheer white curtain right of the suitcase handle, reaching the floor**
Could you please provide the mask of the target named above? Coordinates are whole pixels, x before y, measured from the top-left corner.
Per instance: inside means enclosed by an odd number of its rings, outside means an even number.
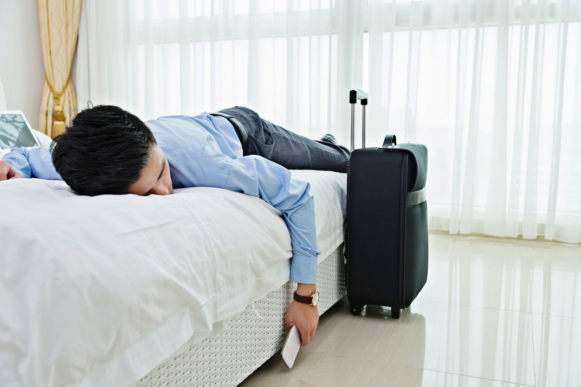
[[[428,146],[431,228],[581,241],[580,6],[370,1],[370,136]]]

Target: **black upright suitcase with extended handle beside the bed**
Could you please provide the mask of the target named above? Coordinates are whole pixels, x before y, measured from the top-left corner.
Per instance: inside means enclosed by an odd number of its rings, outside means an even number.
[[[390,306],[399,319],[428,276],[426,172],[422,144],[397,144],[387,135],[381,147],[353,150],[354,107],[367,94],[350,92],[352,154],[347,172],[347,299],[353,314],[366,304]]]

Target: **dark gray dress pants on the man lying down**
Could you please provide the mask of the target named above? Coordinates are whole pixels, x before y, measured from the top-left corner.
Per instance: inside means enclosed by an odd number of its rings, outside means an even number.
[[[240,121],[248,132],[248,154],[260,155],[287,169],[347,172],[350,151],[344,146],[311,140],[260,118],[248,107],[220,110]]]

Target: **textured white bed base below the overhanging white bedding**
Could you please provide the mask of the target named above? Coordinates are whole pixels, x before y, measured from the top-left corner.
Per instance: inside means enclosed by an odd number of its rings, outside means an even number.
[[[319,313],[324,313],[347,293],[343,244],[317,267]],[[164,361],[132,387],[236,386],[282,348],[286,338],[285,313],[292,302],[295,283],[256,301],[261,320],[248,306],[232,318],[216,337],[193,344]]]

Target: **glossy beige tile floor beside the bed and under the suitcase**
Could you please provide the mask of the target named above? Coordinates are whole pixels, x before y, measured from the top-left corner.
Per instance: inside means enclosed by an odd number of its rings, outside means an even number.
[[[581,386],[581,245],[431,233],[428,282],[390,308],[325,312],[293,368],[250,386]]]

